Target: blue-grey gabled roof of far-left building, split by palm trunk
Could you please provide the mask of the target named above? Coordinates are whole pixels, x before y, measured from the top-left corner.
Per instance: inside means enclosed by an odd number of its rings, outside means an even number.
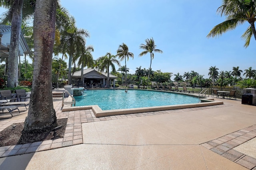
[[[11,26],[0,25],[0,57],[8,57],[9,55],[11,28]],[[20,34],[19,51],[19,55],[30,53],[28,44],[22,33]]]

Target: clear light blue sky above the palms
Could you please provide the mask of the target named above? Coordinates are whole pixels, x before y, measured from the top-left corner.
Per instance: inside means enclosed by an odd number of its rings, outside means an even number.
[[[107,52],[116,54],[123,42],[134,53],[126,62],[134,73],[136,67],[148,69],[150,54],[138,57],[139,48],[147,38],[154,38],[157,49],[152,70],[183,75],[196,71],[209,78],[211,66],[218,71],[232,71],[252,67],[256,69],[256,41],[244,47],[241,35],[249,23],[238,26],[218,38],[206,38],[210,30],[225,20],[216,14],[222,0],[61,0],[70,15],[76,19],[77,28],[90,32],[87,45],[93,45],[94,59]],[[124,65],[124,61],[121,62]],[[118,67],[116,67],[118,69]],[[172,76],[172,79],[174,76]]]

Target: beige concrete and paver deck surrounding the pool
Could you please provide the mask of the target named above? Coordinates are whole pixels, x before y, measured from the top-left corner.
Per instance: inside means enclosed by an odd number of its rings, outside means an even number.
[[[256,106],[223,105],[95,117],[91,109],[61,111],[64,138],[0,147],[0,169],[256,169]],[[0,120],[24,122],[27,111]]]

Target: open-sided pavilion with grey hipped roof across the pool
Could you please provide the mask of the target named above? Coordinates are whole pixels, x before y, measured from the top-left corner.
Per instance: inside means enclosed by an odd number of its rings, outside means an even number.
[[[81,70],[74,72],[72,75],[72,83],[76,84],[81,82]],[[108,73],[103,71],[99,71],[98,69],[84,69],[83,79],[82,79],[82,86],[83,87],[105,87],[107,83]],[[115,79],[117,77],[109,74],[110,85],[113,81],[113,87],[115,87]]]

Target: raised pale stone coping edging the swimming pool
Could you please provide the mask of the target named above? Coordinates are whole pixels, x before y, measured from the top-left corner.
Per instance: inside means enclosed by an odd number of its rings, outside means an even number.
[[[178,94],[182,94],[182,95],[190,95],[190,96],[198,97],[198,95],[194,95],[191,93],[180,93],[180,92],[172,92],[172,91],[163,91],[163,92],[178,93]],[[167,110],[174,110],[174,109],[188,109],[188,108],[195,108],[195,107],[223,105],[222,101],[214,101],[214,99],[210,98],[210,97],[203,98],[200,100],[203,102],[202,103],[192,103],[192,104],[182,104],[182,105],[139,107],[139,108],[132,108],[132,109],[115,109],[115,110],[104,110],[104,111],[102,109],[100,109],[100,107],[98,105],[89,105],[89,106],[64,105],[64,107],[62,108],[62,112],[92,109],[95,117],[98,118],[98,117],[126,115],[126,114],[134,114],[134,113],[145,113],[145,112],[155,112],[155,111],[167,111]],[[72,98],[69,96],[67,101],[72,101]]]

